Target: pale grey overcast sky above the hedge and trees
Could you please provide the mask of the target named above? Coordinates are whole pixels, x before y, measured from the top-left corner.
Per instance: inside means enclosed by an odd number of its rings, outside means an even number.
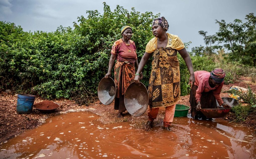
[[[60,25],[72,27],[77,17],[87,17],[87,10],[103,13],[103,2],[111,10],[120,5],[129,11],[134,7],[142,13],[161,13],[170,25],[168,33],[178,35],[183,42],[192,42],[189,50],[204,45],[198,31],[207,31],[208,35],[218,31],[215,19],[244,22],[245,15],[256,16],[256,0],[0,0],[0,21],[13,22],[24,31],[52,32]]]

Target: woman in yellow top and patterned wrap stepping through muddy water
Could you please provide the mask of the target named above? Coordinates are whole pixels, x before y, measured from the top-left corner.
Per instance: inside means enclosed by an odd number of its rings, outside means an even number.
[[[189,73],[189,83],[195,82],[195,76],[191,59],[183,42],[177,35],[166,33],[168,22],[164,17],[155,19],[152,24],[154,38],[146,46],[146,51],[138,66],[135,74],[135,83],[140,82],[140,72],[153,53],[152,71],[150,75],[148,92],[149,105],[148,121],[145,130],[153,127],[153,121],[157,117],[159,107],[165,108],[164,128],[170,131],[170,125],[173,121],[175,106],[180,99],[180,72],[177,50],[184,59]]]

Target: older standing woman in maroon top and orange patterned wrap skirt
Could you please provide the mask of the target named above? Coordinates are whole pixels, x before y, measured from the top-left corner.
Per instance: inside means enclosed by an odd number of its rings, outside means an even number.
[[[135,43],[131,40],[132,28],[127,25],[123,26],[121,28],[121,35],[123,37],[115,41],[113,44],[111,57],[109,60],[109,70],[105,75],[105,78],[111,76],[111,69],[115,60],[117,60],[114,68],[116,84],[114,109],[118,110],[118,118],[122,118],[123,112],[126,110],[124,105],[124,92],[126,91],[129,84],[134,81],[135,67],[138,68],[136,46]],[[140,75],[142,76],[141,72]]]

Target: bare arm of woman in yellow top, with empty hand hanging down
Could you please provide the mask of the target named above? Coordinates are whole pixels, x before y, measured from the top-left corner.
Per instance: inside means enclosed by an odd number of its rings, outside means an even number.
[[[195,83],[195,75],[194,75],[192,61],[191,61],[190,56],[189,56],[189,54],[188,54],[188,52],[185,48],[181,49],[181,50],[178,50],[178,52],[180,53],[180,55],[182,56],[182,58],[184,59],[186,65],[188,67],[188,71],[189,71],[189,74],[190,74],[188,84],[191,83],[191,87],[192,87]]]

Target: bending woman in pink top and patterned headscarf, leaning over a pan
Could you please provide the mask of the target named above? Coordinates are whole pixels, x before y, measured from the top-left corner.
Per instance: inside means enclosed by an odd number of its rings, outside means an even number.
[[[200,111],[201,108],[217,108],[216,100],[224,108],[230,106],[223,102],[220,92],[224,84],[226,74],[223,69],[214,69],[211,73],[207,71],[195,72],[195,85],[190,90],[189,103],[191,106],[191,117],[207,119]]]

